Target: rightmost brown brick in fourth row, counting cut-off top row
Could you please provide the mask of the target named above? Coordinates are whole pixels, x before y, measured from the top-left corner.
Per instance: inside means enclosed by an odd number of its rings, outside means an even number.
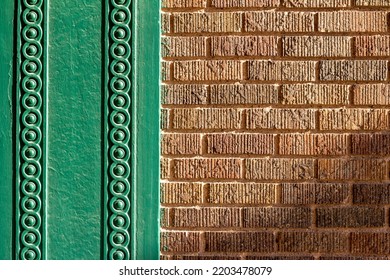
[[[386,81],[385,60],[323,60],[320,61],[322,81]]]

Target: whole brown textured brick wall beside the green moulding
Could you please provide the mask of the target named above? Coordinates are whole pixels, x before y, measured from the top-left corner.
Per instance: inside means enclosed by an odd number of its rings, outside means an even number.
[[[390,1],[162,3],[161,258],[390,258]]]

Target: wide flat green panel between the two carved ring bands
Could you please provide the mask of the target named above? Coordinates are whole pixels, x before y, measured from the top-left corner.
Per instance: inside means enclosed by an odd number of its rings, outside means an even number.
[[[102,2],[49,2],[49,259],[102,255]]]

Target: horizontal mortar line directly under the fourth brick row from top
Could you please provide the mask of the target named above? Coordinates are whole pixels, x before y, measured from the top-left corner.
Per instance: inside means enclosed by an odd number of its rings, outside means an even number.
[[[371,85],[371,84],[384,84],[387,85],[387,80],[375,80],[375,81],[342,81],[342,80],[321,80],[321,81],[262,81],[262,80],[172,80],[162,81],[165,85],[304,85],[304,84],[330,84],[330,85]]]

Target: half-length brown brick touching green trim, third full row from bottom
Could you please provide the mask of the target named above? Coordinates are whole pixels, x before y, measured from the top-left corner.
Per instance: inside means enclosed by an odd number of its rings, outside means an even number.
[[[202,184],[200,183],[161,183],[161,203],[200,204]]]

